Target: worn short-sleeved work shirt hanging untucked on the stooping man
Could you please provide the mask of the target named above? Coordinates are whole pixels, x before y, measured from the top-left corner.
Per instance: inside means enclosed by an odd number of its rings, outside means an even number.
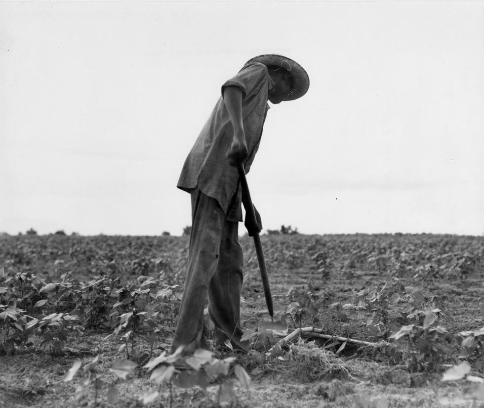
[[[242,122],[248,149],[243,164],[245,172],[249,171],[269,109],[269,90],[274,87],[267,67],[261,63],[245,65],[222,85],[222,96],[185,160],[177,187],[187,192],[199,187],[203,194],[218,201],[228,221],[242,221],[239,173],[226,158],[234,136],[223,100],[224,89],[228,86],[242,90]]]

